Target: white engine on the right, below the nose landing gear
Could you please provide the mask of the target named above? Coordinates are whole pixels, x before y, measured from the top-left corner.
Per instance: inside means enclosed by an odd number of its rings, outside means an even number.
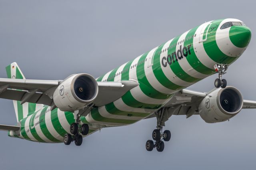
[[[237,115],[243,106],[243,97],[238,89],[227,86],[208,94],[200,103],[198,111],[206,123],[227,121]]]

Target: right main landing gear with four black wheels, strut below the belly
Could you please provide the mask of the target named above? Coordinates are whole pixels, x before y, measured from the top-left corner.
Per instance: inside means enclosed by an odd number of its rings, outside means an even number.
[[[170,130],[164,130],[163,132],[163,117],[165,114],[165,108],[160,109],[155,114],[157,119],[157,126],[156,129],[152,132],[152,138],[154,141],[148,140],[146,142],[146,150],[152,151],[154,148],[156,148],[158,152],[162,152],[164,150],[164,141],[167,142],[171,139],[171,132]]]

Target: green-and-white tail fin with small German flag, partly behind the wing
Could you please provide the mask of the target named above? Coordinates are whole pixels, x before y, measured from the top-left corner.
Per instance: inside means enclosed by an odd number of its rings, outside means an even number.
[[[20,67],[16,62],[11,63],[6,67],[6,73],[9,79],[25,79],[23,73],[20,70]],[[39,110],[43,107],[43,105],[28,102],[21,105],[20,101],[13,101],[13,105],[16,113],[17,122],[19,122],[21,119],[24,119],[25,117],[28,117],[36,110]]]

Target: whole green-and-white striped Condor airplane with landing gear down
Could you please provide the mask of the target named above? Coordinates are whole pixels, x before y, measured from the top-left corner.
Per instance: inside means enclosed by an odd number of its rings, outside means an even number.
[[[222,76],[248,47],[251,31],[238,19],[205,22],[94,78],[87,73],[64,80],[25,79],[17,63],[0,78],[0,98],[13,100],[17,125],[0,125],[8,136],[76,146],[101,128],[156,118],[146,150],[164,150],[172,115],[200,115],[206,123],[228,121],[241,109],[255,109]],[[186,89],[217,73],[208,93]]]

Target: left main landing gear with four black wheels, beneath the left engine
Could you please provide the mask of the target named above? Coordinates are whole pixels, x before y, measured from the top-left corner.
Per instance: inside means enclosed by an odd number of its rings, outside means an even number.
[[[77,115],[78,117],[78,115]],[[82,135],[87,135],[89,132],[89,126],[87,124],[80,125],[80,119],[76,119],[76,123],[70,125],[70,133],[66,133],[64,136],[64,144],[69,145],[75,141],[76,146],[80,146],[83,142]],[[82,134],[82,135],[81,135]]]

